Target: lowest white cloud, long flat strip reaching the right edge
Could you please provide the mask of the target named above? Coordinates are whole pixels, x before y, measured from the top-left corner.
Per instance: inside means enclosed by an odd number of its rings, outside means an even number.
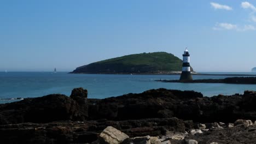
[[[231,23],[216,23],[216,25],[213,27],[213,30],[255,31],[256,27],[252,25],[238,27],[237,25]]]

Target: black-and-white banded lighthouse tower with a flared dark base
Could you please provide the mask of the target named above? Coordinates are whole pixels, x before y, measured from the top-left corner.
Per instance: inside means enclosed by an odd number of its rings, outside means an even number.
[[[182,56],[183,56],[182,74],[179,80],[183,80],[183,81],[193,80],[192,75],[190,73],[189,52],[187,48],[185,49],[184,54]]]

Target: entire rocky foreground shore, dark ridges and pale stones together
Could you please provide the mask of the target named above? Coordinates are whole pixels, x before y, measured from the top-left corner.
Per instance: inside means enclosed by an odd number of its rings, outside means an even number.
[[[208,98],[161,88],[88,99],[77,88],[1,104],[0,143],[255,143],[255,103],[253,91]]]

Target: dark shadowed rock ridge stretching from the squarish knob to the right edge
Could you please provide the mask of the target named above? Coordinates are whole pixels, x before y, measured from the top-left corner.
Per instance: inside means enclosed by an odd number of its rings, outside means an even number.
[[[194,91],[152,89],[102,100],[89,99],[90,119],[141,119],[177,117],[194,122],[256,120],[256,93],[203,97]]]

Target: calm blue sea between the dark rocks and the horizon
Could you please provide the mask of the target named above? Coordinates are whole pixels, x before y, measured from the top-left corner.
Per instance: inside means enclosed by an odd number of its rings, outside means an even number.
[[[224,79],[234,75],[256,73],[203,73],[193,79]],[[220,74],[220,75],[217,75]],[[226,75],[227,74],[227,75]],[[228,74],[233,74],[228,75]],[[178,80],[179,75],[119,75],[119,74],[68,74],[68,72],[0,72],[0,104],[24,98],[42,97],[48,94],[70,95],[73,88],[88,90],[88,98],[103,99],[127,93],[142,93],[149,89],[166,88],[193,90],[203,96],[218,94],[243,94],[245,90],[256,91],[256,85],[225,83],[166,83],[155,80]]]

